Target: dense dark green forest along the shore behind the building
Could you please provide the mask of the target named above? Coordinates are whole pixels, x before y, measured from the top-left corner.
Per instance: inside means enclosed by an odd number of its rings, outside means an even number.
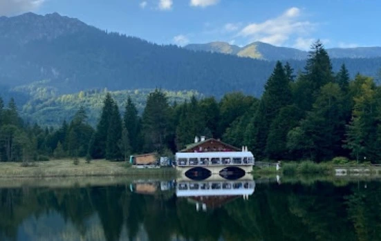
[[[149,93],[139,115],[125,97],[124,110],[108,93],[96,128],[81,107],[59,128],[23,123],[11,99],[0,102],[1,160],[39,156],[124,160],[131,153],[174,153],[195,135],[249,146],[257,160],[313,160],[333,157],[380,162],[381,87],[371,77],[349,77],[346,66],[333,73],[317,41],[303,73],[277,62],[261,99],[243,93],[191,97],[169,104],[160,89]],[[122,115],[120,114],[122,113]]]

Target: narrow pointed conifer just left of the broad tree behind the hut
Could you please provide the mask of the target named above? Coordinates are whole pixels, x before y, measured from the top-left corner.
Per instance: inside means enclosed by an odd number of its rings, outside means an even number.
[[[140,119],[138,117],[138,110],[133,104],[131,97],[127,98],[127,104],[124,109],[123,116],[124,128],[126,128],[129,145],[131,146],[131,153],[138,153],[140,151]]]

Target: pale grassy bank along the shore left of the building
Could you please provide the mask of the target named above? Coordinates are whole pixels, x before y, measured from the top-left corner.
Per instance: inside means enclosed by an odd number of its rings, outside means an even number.
[[[0,162],[0,177],[86,177],[86,176],[142,176],[175,177],[174,168],[136,169],[124,162],[93,160],[87,164],[84,160],[75,165],[73,160],[51,160],[34,162],[24,167],[19,162]]]

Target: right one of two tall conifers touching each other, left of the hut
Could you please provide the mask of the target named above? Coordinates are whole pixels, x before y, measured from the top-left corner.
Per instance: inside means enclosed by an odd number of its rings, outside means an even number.
[[[118,105],[114,103],[112,108],[109,117],[109,130],[107,131],[105,157],[107,160],[120,160],[122,153],[118,144],[122,138],[122,119],[120,119]]]

